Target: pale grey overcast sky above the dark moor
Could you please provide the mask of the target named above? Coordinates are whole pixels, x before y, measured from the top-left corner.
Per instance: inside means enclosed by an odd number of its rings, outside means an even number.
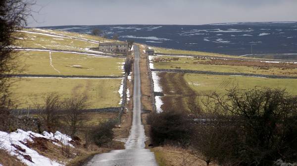
[[[297,21],[297,0],[37,0],[29,27]]]

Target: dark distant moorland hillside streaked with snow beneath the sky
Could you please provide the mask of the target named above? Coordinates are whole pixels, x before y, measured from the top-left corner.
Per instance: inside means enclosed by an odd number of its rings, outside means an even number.
[[[133,39],[154,47],[251,57],[297,60],[297,22],[245,22],[206,25],[94,25],[42,27],[91,34],[100,29],[108,37]],[[259,55],[258,55],[259,54]],[[289,54],[289,55],[288,55]]]

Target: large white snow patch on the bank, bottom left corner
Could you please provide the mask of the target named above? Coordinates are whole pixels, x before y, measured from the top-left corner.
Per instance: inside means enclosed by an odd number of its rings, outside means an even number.
[[[72,144],[68,143],[72,139],[66,134],[56,132],[54,137],[51,136],[53,135],[52,133],[47,134],[48,135],[42,135],[31,131],[25,132],[20,129],[12,133],[0,132],[0,148],[6,150],[10,155],[16,156],[16,158],[27,166],[63,166],[27,147],[26,143],[28,141],[34,142],[33,139],[37,137],[52,140],[55,145],[60,145],[56,142],[61,142],[63,145],[69,144],[71,147],[74,147]]]

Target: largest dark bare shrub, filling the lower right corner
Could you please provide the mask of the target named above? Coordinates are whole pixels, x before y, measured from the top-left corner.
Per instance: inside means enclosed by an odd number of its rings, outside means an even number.
[[[203,104],[214,115],[198,125],[193,141],[204,157],[226,166],[296,162],[296,96],[282,89],[235,88],[227,95],[208,94]]]

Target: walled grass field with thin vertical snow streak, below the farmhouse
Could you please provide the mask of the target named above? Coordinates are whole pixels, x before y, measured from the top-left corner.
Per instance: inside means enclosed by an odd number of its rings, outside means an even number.
[[[24,74],[123,75],[123,59],[57,52],[51,52],[50,56],[52,66],[49,52],[44,51],[22,51],[17,61],[25,65]]]

